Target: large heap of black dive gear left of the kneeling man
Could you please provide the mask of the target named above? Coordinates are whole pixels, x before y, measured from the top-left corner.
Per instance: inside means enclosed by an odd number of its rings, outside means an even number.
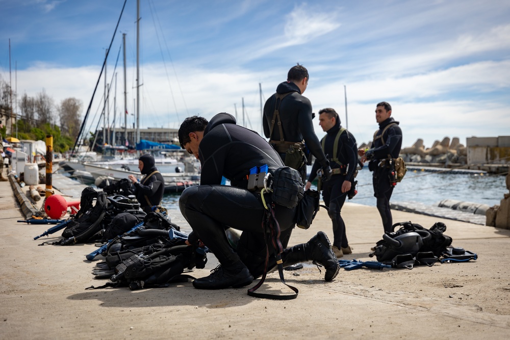
[[[92,274],[96,279],[109,281],[87,289],[113,286],[138,290],[193,278],[183,273],[205,267],[207,247],[186,245],[188,235],[171,222],[164,208],[153,207],[148,214],[141,211],[133,188],[126,181],[116,182],[103,191],[85,188],[80,210],[34,240],[65,228],[60,240],[40,245],[99,242],[97,250],[86,258],[93,260],[102,255],[104,260],[95,265]]]

